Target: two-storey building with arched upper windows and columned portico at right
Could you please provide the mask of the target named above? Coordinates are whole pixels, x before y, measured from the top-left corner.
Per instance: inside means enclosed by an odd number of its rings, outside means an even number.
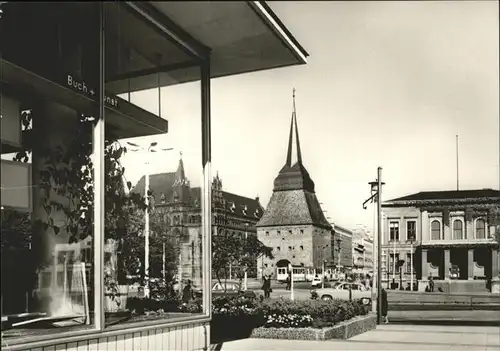
[[[492,189],[423,191],[386,201],[382,205],[382,247],[388,258],[384,281],[394,279],[399,285],[402,280],[406,288],[413,253],[420,290],[430,276],[436,289],[443,291],[487,291],[488,279],[495,288],[499,251],[494,219],[499,203],[500,191]]]

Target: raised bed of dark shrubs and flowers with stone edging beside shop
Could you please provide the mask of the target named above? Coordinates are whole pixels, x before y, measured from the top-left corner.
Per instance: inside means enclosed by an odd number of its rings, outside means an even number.
[[[360,302],[289,301],[220,297],[213,300],[211,338],[220,341],[242,337],[275,337],[323,340],[365,330],[365,319],[346,331],[343,323],[365,316],[368,307]],[[373,319],[373,318],[372,318]],[[368,320],[371,320],[368,318]],[[371,325],[368,323],[367,325]],[[333,328],[332,327],[338,326]],[[356,330],[357,330],[356,329]],[[347,334],[346,334],[347,333]]]

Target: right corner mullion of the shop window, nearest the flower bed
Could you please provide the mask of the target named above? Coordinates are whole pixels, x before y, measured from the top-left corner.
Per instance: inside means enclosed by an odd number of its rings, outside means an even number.
[[[211,182],[210,60],[201,64],[201,139],[203,166],[203,311],[211,317],[212,301],[212,182]]]

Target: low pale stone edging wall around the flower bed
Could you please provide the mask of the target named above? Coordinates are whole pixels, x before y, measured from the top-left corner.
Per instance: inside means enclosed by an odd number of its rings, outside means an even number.
[[[349,339],[358,334],[375,329],[377,316],[368,314],[366,316],[354,317],[348,321],[341,322],[333,327],[314,328],[256,328],[250,337],[260,339],[288,339],[288,340],[329,340]]]

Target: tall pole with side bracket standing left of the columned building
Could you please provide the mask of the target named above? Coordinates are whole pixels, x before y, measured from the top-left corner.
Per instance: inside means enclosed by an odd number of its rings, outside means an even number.
[[[382,182],[382,167],[377,168],[377,180],[375,182],[370,182],[369,183],[371,186],[371,192],[372,196],[368,198],[363,203],[363,209],[366,209],[366,204],[368,202],[373,202],[376,201],[377,203],[377,236],[376,236],[376,241],[377,241],[377,260],[376,260],[376,266],[377,266],[377,279],[374,279],[376,281],[376,287],[377,287],[377,324],[381,323],[381,318],[382,318],[382,185],[385,183]],[[375,239],[375,238],[374,238]],[[375,269],[374,269],[375,271]],[[375,284],[372,286],[372,297],[374,293],[374,287]],[[372,303],[373,303],[373,298],[372,298]],[[373,306],[374,307],[374,306]]]

